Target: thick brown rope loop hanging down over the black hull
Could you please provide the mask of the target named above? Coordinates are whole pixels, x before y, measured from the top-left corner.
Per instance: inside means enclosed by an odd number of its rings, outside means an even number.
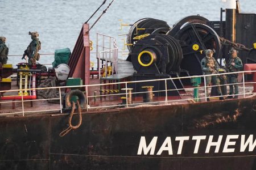
[[[79,101],[77,101],[77,111],[78,111],[78,114],[79,114],[79,123],[76,125],[76,126],[73,126],[72,125],[72,117],[73,117],[73,114],[74,114],[74,111],[75,111],[75,102],[72,101],[72,110],[71,110],[71,113],[69,114],[69,119],[68,119],[68,128],[63,130],[61,133],[60,133],[60,137],[64,137],[64,135],[66,135],[67,133],[69,133],[69,131],[71,131],[72,129],[77,129],[80,127],[80,125],[82,124],[82,112],[81,112],[81,107],[80,107],[80,104],[79,104]]]

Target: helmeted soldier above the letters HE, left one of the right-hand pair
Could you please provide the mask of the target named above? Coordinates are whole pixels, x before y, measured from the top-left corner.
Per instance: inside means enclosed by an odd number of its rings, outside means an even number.
[[[201,60],[201,68],[203,71],[204,75],[210,75],[210,74],[217,74],[219,69],[219,65],[216,62],[216,60],[213,57],[213,50],[205,50],[205,57]],[[217,85],[217,93],[219,96],[222,96],[222,92],[221,92],[221,87],[218,86],[220,85],[220,78],[219,76],[213,75],[213,76],[205,76],[205,81],[206,84],[205,86],[207,86],[207,91],[206,91],[206,95],[207,95],[207,101],[210,101],[209,99],[209,86],[210,83],[212,82],[212,84],[214,86]],[[224,97],[220,97],[220,100],[223,100]]]

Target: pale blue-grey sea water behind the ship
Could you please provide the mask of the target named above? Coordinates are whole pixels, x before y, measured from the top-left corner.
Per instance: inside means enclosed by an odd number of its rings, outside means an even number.
[[[55,49],[70,48],[73,50],[82,23],[101,5],[100,0],[0,0],[0,36],[7,37],[9,54],[23,54],[30,42],[28,31],[38,31],[42,42],[40,53],[54,53]],[[90,20],[93,23],[110,1]],[[242,12],[256,13],[255,1],[240,1]],[[102,16],[90,32],[90,39],[96,42],[96,32],[117,38],[119,51],[123,48],[123,37],[128,27],[119,31],[119,19],[123,23],[133,24],[141,18],[166,20],[169,25],[175,24],[188,15],[200,14],[209,20],[219,20],[221,0],[115,0],[113,5]],[[96,43],[94,43],[96,44]],[[96,49],[96,48],[94,48]],[[21,62],[21,57],[9,57],[9,63]],[[41,57],[40,63],[51,63],[53,56]]]

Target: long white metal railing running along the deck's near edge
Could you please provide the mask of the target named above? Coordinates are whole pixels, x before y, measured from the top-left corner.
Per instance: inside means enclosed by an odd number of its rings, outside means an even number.
[[[56,91],[59,92],[59,96],[58,97],[52,97],[51,99],[35,99],[35,100],[23,100],[24,96],[22,94],[22,98],[21,100],[13,100],[13,101],[5,101],[5,100],[0,100],[0,104],[1,104],[1,111],[0,114],[22,114],[22,116],[25,116],[25,114],[30,114],[30,113],[39,113],[39,112],[51,112],[53,113],[53,111],[57,111],[62,113],[62,109],[63,109],[63,96],[61,96],[61,92],[64,92],[67,88],[71,89],[71,88],[81,88],[85,89],[85,96],[86,96],[86,103],[84,104],[84,108],[86,108],[86,111],[92,110],[92,109],[100,109],[100,108],[115,108],[115,107],[133,107],[135,105],[141,105],[141,104],[176,104],[176,103],[188,103],[188,100],[194,100],[195,98],[192,96],[193,94],[193,90],[195,90],[196,88],[199,90],[199,94],[200,96],[197,97],[196,99],[200,99],[201,101],[206,101],[207,100],[207,96],[205,94],[205,90],[207,88],[207,86],[200,86],[200,87],[188,87],[188,88],[181,88],[181,89],[170,89],[167,88],[168,86],[168,82],[170,82],[170,80],[178,80],[178,79],[191,79],[191,78],[203,78],[204,82],[205,82],[205,77],[207,76],[213,76],[213,75],[228,75],[228,74],[240,74],[240,77],[242,77],[242,81],[238,82],[238,83],[234,83],[234,84],[238,84],[238,86],[240,87],[240,94],[238,94],[240,96],[240,98],[245,98],[248,97],[250,95],[254,95],[255,92],[253,92],[253,86],[256,82],[245,82],[244,78],[245,78],[245,74],[246,73],[253,73],[255,71],[240,71],[240,72],[235,72],[235,73],[223,73],[223,74],[212,74],[212,75],[200,75],[200,76],[187,76],[187,77],[181,77],[181,78],[167,78],[167,79],[154,79],[154,80],[141,80],[141,81],[133,81],[133,82],[119,82],[119,83],[105,83],[105,84],[90,84],[90,85],[86,85],[86,86],[64,86],[64,87],[47,87],[47,88],[31,88],[31,89],[27,89],[27,91],[29,90],[43,90],[45,92],[51,90],[51,89],[55,89]],[[254,73],[256,74],[256,73]],[[161,92],[162,97],[158,97],[158,100],[155,101],[151,101],[148,103],[144,103],[141,99],[141,95],[147,93],[147,92],[131,92],[131,94],[133,96],[137,96],[139,99],[134,101],[133,103],[129,103],[128,101],[128,96],[129,96],[129,92],[127,91],[127,87],[129,87],[129,85],[131,83],[142,83],[142,82],[155,82],[155,81],[162,81],[165,84],[165,88],[163,90],[157,90],[157,91],[153,91],[154,93],[157,92]],[[234,85],[233,84],[233,85]],[[229,86],[232,84],[222,84],[219,86]],[[97,93],[100,91],[100,89],[104,89],[102,87],[104,86],[119,86],[121,88],[124,88],[124,90],[122,92],[119,92],[118,94],[101,94],[101,95],[97,95]],[[217,87],[217,85],[213,85],[213,86],[209,86],[209,87]],[[88,89],[93,88],[93,89],[97,89],[97,93],[93,93],[90,94],[88,92]],[[120,89],[121,89],[120,88]],[[242,90],[241,90],[242,88]],[[249,89],[248,89],[249,88]],[[186,94],[189,94],[190,96],[188,97],[184,97],[182,96],[181,99],[170,99],[170,96],[168,96],[168,92],[171,91],[180,91],[183,90],[186,92]],[[6,96],[7,93],[10,94],[18,94],[20,90],[9,90],[9,91],[0,91],[0,94],[4,94],[4,96]],[[25,89],[23,89],[22,91],[25,91]],[[4,93],[7,92],[7,93]],[[126,102],[123,103],[121,100],[121,96],[125,96],[126,97]],[[222,95],[222,96],[215,96],[215,97],[227,97],[230,95]],[[103,98],[103,99],[102,99]],[[48,100],[54,100],[54,101],[59,101],[59,104],[42,104],[43,102],[46,102]],[[33,102],[33,107],[29,107],[28,104],[29,102]],[[122,103],[121,103],[122,102]],[[12,105],[15,105],[16,109],[11,109]],[[42,107],[44,106],[44,107]]]

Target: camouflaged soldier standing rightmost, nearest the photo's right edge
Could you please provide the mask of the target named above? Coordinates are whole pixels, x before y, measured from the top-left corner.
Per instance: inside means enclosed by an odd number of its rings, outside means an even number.
[[[236,72],[236,71],[240,71],[240,69],[242,69],[243,64],[241,59],[237,56],[237,50],[232,49],[229,52],[231,54],[231,58],[229,59],[227,65],[226,65],[226,69],[228,70],[228,72]],[[232,99],[233,98],[233,93],[235,94],[234,98],[237,99],[238,98],[238,84],[233,84],[233,83],[237,83],[237,77],[238,74],[228,74],[228,83],[231,84],[229,85],[229,95],[228,98]],[[234,87],[234,88],[233,88]],[[235,91],[234,91],[235,90]]]

